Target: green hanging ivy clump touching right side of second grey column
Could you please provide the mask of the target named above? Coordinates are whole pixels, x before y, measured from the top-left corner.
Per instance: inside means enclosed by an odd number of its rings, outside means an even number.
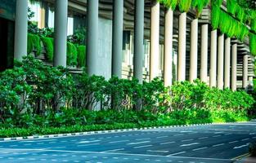
[[[78,51],[73,43],[67,42],[67,65],[77,65]]]

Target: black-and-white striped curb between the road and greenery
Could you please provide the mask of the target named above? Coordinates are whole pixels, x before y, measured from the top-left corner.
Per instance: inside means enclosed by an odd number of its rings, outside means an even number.
[[[234,124],[234,123],[245,123],[245,122],[246,121],[216,122],[216,123],[203,123],[203,124],[191,124],[191,125],[179,125],[179,126],[141,127],[141,128],[119,129],[119,130],[96,130],[96,131],[86,131],[86,132],[69,133],[69,134],[47,134],[47,135],[25,136],[25,137],[0,138],[0,141],[4,142],[4,141],[16,141],[16,140],[28,140],[28,139],[49,139],[49,138],[61,138],[61,137],[70,137],[70,136],[81,136],[81,135],[88,135],[88,134],[107,134],[107,133],[119,133],[119,132],[136,131],[136,130],[168,129],[168,128],[175,128],[175,127],[207,126],[207,125]]]

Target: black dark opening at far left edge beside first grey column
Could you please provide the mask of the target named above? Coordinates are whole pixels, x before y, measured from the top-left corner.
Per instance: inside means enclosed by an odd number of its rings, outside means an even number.
[[[0,17],[0,72],[13,67],[14,22]]]

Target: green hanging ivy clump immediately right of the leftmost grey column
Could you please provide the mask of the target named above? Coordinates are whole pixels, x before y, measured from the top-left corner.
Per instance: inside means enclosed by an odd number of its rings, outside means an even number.
[[[35,55],[40,55],[42,51],[40,37],[36,34],[28,33],[28,46],[27,46],[28,54],[30,54],[33,50],[36,51]]]

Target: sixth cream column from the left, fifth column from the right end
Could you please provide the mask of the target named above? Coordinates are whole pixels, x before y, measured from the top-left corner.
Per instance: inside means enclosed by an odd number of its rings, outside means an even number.
[[[217,75],[217,29],[211,32],[211,56],[210,56],[209,86],[216,87]]]

